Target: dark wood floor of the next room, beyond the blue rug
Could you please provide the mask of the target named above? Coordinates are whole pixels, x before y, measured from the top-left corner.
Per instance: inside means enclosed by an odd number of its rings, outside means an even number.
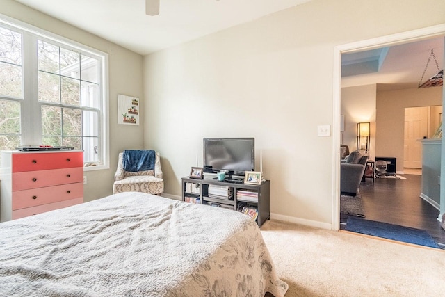
[[[439,211],[419,197],[421,175],[403,175],[406,179],[366,179],[359,187],[367,220],[426,230],[445,248],[445,230],[440,227]],[[341,227],[346,217],[340,217]]]

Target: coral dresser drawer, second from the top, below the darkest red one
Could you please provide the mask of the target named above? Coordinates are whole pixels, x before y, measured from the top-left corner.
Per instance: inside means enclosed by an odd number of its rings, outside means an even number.
[[[83,182],[82,167],[13,173],[13,191],[57,186],[58,184],[74,184],[76,182]]]

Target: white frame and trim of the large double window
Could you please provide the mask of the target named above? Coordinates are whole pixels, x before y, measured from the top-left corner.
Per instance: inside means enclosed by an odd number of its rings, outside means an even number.
[[[0,14],[0,24],[6,25],[6,27],[10,27],[12,30],[17,30],[21,32],[22,34],[32,34],[35,36],[35,38],[42,38],[42,40],[47,40],[54,42],[56,45],[59,46],[67,46],[70,48],[78,49],[79,51],[83,51],[87,54],[90,54],[92,56],[95,56],[97,58],[102,67],[101,69],[101,75],[102,75],[102,81],[101,86],[101,92],[102,92],[102,98],[101,98],[101,107],[100,107],[100,117],[101,121],[99,122],[100,127],[100,141],[101,141],[101,149],[102,152],[99,153],[99,156],[102,156],[100,163],[85,163],[83,169],[85,171],[90,170],[103,170],[103,169],[109,169],[110,168],[110,153],[109,153],[109,111],[108,111],[108,54],[104,53],[103,51],[99,51],[97,49],[93,49],[92,47],[88,47],[87,45],[82,45],[79,42],[75,42],[73,40],[70,40],[68,38],[65,38],[60,35],[56,35],[54,33],[45,31],[43,29],[40,29],[38,27],[32,26],[30,24],[26,24],[24,22],[21,22],[17,19],[13,19],[11,17],[8,17],[6,15]],[[22,49],[24,47],[27,47],[28,45],[22,45]],[[27,49],[29,50],[29,49]],[[37,49],[35,49],[35,52],[37,52]],[[37,55],[35,56],[37,57]],[[23,55],[24,60],[26,59],[26,56]],[[38,69],[37,67],[33,67],[31,70],[26,69],[26,65],[29,65],[29,61],[22,61],[24,70],[23,70],[23,79],[24,79],[24,90],[23,90],[23,96],[26,98],[27,94],[30,92],[35,92],[33,89],[34,87],[30,85],[30,83],[26,83],[26,81],[31,78],[35,79],[34,77],[37,77],[38,75]],[[31,61],[31,65],[33,64],[33,61]],[[37,65],[35,61],[35,65]],[[22,102],[21,99],[13,99],[14,101],[21,102],[22,104],[22,111],[21,111],[21,124],[22,124],[22,140],[26,141],[26,143],[30,144],[39,144],[41,137],[42,137],[42,124],[41,124],[41,111],[40,111],[40,103],[38,100],[32,100],[33,104],[30,106],[29,109],[25,109],[24,102]],[[37,115],[37,117],[35,116]],[[38,116],[40,115],[40,118]],[[38,120],[36,119],[38,118]],[[25,122],[26,121],[26,122]],[[26,131],[26,127],[34,127],[33,133],[29,133],[29,131]]]

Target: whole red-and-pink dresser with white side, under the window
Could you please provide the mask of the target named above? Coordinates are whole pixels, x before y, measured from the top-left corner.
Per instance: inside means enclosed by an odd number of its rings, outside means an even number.
[[[83,202],[83,152],[2,152],[1,221]]]

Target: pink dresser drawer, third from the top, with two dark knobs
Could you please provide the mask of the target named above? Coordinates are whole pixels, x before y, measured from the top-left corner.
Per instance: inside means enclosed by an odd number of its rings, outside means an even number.
[[[83,197],[83,183],[13,191],[13,211]]]

